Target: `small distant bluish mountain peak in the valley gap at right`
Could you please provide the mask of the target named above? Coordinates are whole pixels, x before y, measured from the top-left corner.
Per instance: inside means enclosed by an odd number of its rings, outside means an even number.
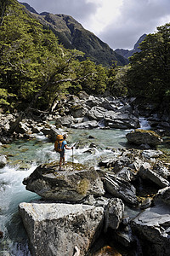
[[[118,55],[122,55],[124,58],[128,59],[128,57],[131,57],[135,52],[139,52],[139,51],[140,51],[140,49],[139,49],[139,44],[144,41],[144,38],[145,38],[146,36],[147,36],[146,34],[142,35],[142,36],[139,38],[139,40],[137,41],[137,43],[134,44],[133,49],[116,49],[115,52],[116,52]]]

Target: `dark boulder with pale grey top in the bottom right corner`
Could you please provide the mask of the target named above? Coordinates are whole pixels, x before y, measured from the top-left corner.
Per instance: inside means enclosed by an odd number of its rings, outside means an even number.
[[[170,206],[147,208],[132,220],[133,231],[145,243],[144,255],[170,255]],[[148,246],[149,245],[149,246]]]

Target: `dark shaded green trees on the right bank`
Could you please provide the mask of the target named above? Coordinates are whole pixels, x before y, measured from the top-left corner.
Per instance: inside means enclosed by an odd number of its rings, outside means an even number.
[[[157,32],[149,34],[140,49],[130,58],[129,94],[160,101],[170,88],[170,24],[157,27]]]

